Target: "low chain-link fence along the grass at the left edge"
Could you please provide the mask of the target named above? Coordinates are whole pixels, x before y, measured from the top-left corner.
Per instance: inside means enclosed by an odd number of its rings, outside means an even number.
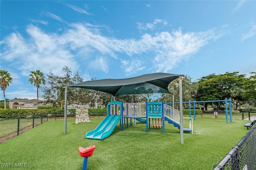
[[[63,115],[63,113],[44,113],[40,115],[0,119],[0,143],[48,121],[48,115],[56,119],[57,116]]]

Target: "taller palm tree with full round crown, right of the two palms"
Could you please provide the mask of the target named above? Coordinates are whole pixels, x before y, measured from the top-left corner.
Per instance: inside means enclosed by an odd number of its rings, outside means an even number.
[[[45,77],[44,77],[44,73],[42,73],[39,70],[36,71],[30,71],[31,74],[29,75],[30,78],[28,79],[28,81],[32,84],[34,83],[34,86],[36,86],[36,94],[37,94],[37,106],[38,106],[38,89],[40,87],[40,84],[45,85]]]

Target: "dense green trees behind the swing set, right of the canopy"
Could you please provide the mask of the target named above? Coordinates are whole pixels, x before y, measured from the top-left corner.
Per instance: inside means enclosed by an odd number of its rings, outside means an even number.
[[[251,76],[239,72],[226,72],[225,74],[210,74],[201,77],[196,82],[192,82],[189,76],[182,80],[183,101],[214,101],[232,99],[234,109],[240,105],[256,107],[256,72],[251,72]],[[174,101],[179,101],[179,80],[176,79],[168,86],[169,91],[174,93]],[[161,100],[172,102],[172,95],[162,94]],[[204,103],[207,105],[211,103]],[[219,103],[214,103],[219,107]]]

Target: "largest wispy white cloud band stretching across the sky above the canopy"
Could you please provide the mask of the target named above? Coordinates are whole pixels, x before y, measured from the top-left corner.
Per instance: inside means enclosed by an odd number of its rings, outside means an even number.
[[[155,24],[159,22],[164,23],[164,20],[154,21]],[[182,33],[179,28],[155,35],[144,34],[137,40],[117,39],[102,35],[101,28],[104,26],[77,23],[69,25],[65,32],[56,34],[28,25],[28,38],[12,33],[3,39],[1,59],[15,59],[13,64],[17,65],[22,75],[28,75],[29,71],[36,69],[60,75],[64,65],[79,69],[81,66],[86,67],[86,63],[95,66],[91,68],[107,73],[108,57],[119,58],[127,75],[145,69],[145,65],[153,65],[156,71],[167,72],[211,40],[223,36],[215,30]],[[140,59],[134,55],[140,55]]]

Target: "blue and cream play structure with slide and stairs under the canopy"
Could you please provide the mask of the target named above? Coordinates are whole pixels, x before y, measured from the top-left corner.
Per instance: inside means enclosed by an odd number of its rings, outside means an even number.
[[[113,132],[114,128],[120,121],[120,126],[124,130],[124,124],[128,128],[128,119],[133,120],[133,125],[136,125],[136,120],[146,123],[146,132],[150,129],[150,119],[154,128],[162,128],[164,133],[164,125],[167,123],[173,124],[180,130],[180,111],[164,104],[164,102],[145,102],[145,103],[122,103],[120,101],[112,101],[107,106],[108,115],[94,130],[86,133],[86,138],[102,140]],[[192,132],[193,134],[193,119],[190,121],[189,128],[183,128],[183,132]]]

